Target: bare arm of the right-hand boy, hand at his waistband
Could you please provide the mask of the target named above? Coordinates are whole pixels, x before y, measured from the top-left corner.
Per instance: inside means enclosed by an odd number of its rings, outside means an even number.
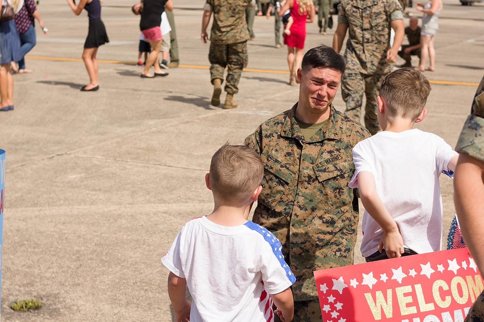
[[[404,253],[403,238],[398,224],[393,220],[383,201],[375,189],[375,178],[369,171],[358,173],[358,190],[364,209],[375,219],[383,230],[383,236],[378,243],[378,251],[385,252],[389,258],[400,257]]]

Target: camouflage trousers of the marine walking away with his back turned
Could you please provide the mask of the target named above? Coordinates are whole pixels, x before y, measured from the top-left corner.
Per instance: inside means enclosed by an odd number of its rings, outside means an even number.
[[[247,66],[247,42],[220,43],[211,42],[209,61],[210,81],[219,78],[224,81],[224,70],[227,67],[227,79],[225,91],[228,94],[237,94],[239,80],[241,79],[242,69]]]

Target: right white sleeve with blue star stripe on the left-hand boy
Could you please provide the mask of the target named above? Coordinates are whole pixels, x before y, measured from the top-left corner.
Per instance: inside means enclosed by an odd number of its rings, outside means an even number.
[[[296,281],[294,274],[284,261],[281,243],[277,238],[275,240],[276,242],[272,245],[265,244],[260,267],[264,289],[269,294],[281,293]]]

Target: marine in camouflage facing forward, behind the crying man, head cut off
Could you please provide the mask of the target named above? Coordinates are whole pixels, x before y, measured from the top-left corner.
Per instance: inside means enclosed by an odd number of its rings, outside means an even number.
[[[341,93],[346,102],[345,114],[360,122],[364,93],[364,124],[371,134],[380,130],[377,96],[381,80],[394,66],[386,62],[387,51],[390,49],[391,22],[394,20],[402,20],[403,40],[403,14],[398,1],[342,0],[338,6],[338,28],[346,25],[348,29],[345,52],[347,70],[341,80]],[[398,48],[400,45],[401,41],[397,43],[395,37],[393,47]]]

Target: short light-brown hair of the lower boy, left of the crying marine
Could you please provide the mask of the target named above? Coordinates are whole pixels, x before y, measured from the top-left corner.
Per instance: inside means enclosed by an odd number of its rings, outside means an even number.
[[[212,156],[210,187],[225,201],[241,202],[250,197],[263,176],[260,155],[246,146],[226,143]]]

